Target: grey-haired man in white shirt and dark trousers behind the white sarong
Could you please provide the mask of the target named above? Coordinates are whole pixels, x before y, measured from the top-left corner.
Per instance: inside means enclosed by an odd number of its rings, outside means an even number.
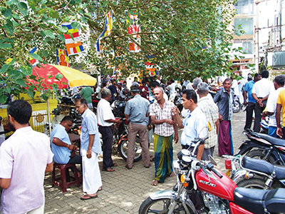
[[[102,88],[101,100],[97,107],[97,121],[103,140],[103,171],[107,172],[115,171],[112,167],[118,165],[112,160],[113,132],[111,126],[113,123],[122,123],[121,119],[115,120],[109,103],[111,96],[110,89]]]

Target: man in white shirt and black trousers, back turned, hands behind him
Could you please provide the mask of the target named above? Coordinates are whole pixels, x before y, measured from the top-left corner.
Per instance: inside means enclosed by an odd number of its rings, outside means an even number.
[[[261,72],[261,80],[257,83],[254,83],[254,87],[252,88],[252,97],[257,101],[254,107],[254,131],[259,132],[261,122],[261,114],[264,111],[266,106],[267,98],[271,89],[273,88],[273,83],[269,81],[267,78],[269,76],[269,72],[264,70]]]

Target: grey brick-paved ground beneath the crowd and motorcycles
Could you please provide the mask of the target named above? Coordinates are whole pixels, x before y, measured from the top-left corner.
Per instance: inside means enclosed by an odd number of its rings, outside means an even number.
[[[244,112],[234,113],[232,119],[232,134],[234,141],[234,153],[237,153],[239,145],[245,139],[242,134],[245,123]],[[181,134],[181,131],[180,131]],[[180,151],[180,143],[174,145],[175,157]],[[153,154],[153,147],[150,148]],[[218,163],[217,168],[224,169],[224,159],[214,151],[214,158]],[[165,183],[156,187],[150,185],[155,178],[155,166],[144,168],[142,161],[135,163],[132,170],[125,168],[125,161],[120,155],[114,153],[114,162],[118,163],[115,172],[101,172],[103,190],[98,192],[98,198],[80,200],[83,195],[82,186],[78,188],[72,185],[66,193],[61,193],[58,187],[51,187],[51,174],[46,175],[46,207],[45,213],[138,213],[140,204],[150,193],[158,190],[171,190],[175,185],[175,177],[167,178]],[[102,168],[102,157],[99,160]]]

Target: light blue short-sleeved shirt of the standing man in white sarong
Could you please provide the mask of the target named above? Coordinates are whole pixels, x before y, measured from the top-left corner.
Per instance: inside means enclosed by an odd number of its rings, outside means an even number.
[[[82,126],[81,126],[81,156],[85,156],[89,145],[89,135],[94,136],[94,142],[92,146],[92,151],[94,153],[102,153],[100,137],[97,126],[97,119],[95,113],[86,109],[81,116]]]

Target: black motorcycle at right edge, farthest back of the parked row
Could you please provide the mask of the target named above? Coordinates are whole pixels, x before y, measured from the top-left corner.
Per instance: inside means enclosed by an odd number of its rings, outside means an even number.
[[[285,165],[285,140],[268,136],[264,133],[250,131],[243,132],[249,140],[239,146],[239,155],[259,158],[269,163]]]

